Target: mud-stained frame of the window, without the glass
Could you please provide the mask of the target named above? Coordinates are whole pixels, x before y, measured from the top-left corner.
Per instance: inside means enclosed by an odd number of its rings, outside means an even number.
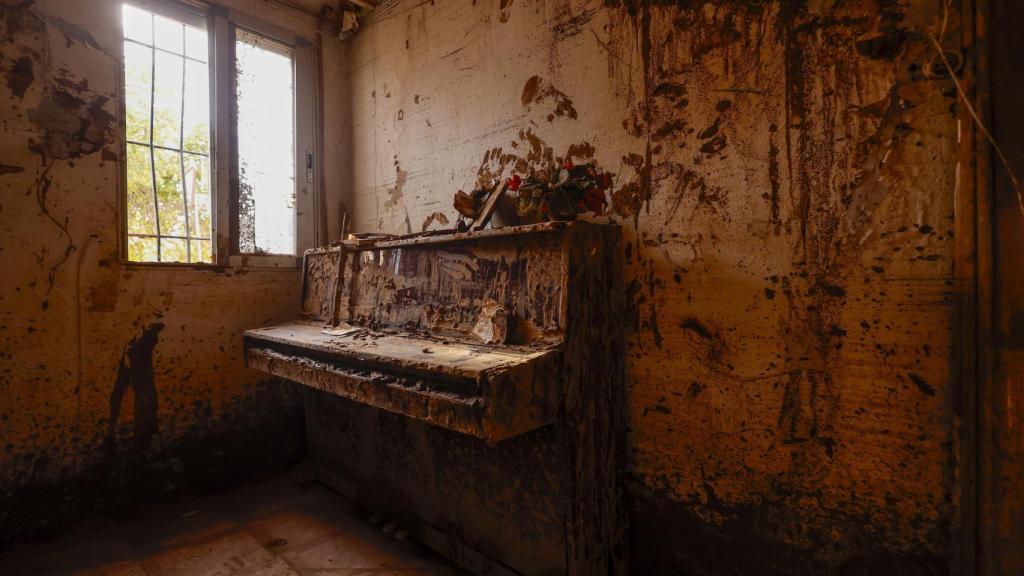
[[[132,266],[185,268],[280,268],[297,269],[302,253],[316,246],[316,201],[321,190],[319,151],[314,131],[316,54],[301,35],[267,24],[250,14],[220,5],[188,0],[121,0],[139,8],[180,22],[205,20],[210,74],[210,174],[211,174],[211,262],[134,261],[128,259],[128,143],[124,68],[124,27],[119,26],[120,43],[120,142],[119,170],[119,252],[122,263]],[[295,253],[243,254],[239,249],[239,175],[236,134],[237,106],[234,82],[234,30],[244,29],[283,44],[294,54],[295,118]]]

